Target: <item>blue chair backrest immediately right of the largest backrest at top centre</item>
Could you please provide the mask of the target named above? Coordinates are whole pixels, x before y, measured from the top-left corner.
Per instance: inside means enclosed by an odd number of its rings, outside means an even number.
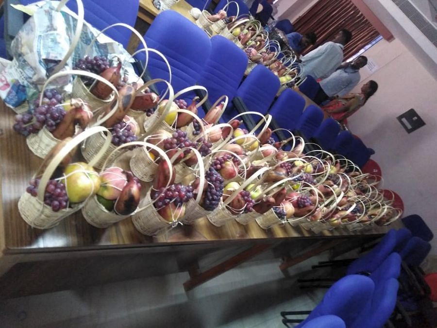
[[[197,84],[206,87],[211,104],[223,95],[228,96],[229,104],[231,104],[246,67],[247,56],[234,42],[221,35],[213,36],[211,55],[206,61]],[[199,115],[202,117],[202,113]]]

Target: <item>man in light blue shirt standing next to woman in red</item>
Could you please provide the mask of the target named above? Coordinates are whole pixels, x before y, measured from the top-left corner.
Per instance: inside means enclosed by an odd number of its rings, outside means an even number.
[[[367,65],[367,57],[359,56],[352,63],[343,63],[334,73],[320,81],[319,90],[314,98],[321,104],[334,97],[347,95],[360,82],[359,69]]]

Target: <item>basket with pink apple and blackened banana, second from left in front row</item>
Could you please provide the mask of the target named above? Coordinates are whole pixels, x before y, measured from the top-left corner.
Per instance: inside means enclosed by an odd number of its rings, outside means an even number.
[[[164,151],[146,142],[126,143],[115,149],[113,153],[118,153],[120,148],[132,146],[153,148],[163,161],[170,163]],[[101,186],[96,195],[89,198],[82,207],[86,222],[97,228],[106,228],[146,209],[149,205],[143,202],[142,207],[138,207],[142,185],[131,172],[117,166],[107,167],[113,160],[112,154],[106,158],[100,173]]]

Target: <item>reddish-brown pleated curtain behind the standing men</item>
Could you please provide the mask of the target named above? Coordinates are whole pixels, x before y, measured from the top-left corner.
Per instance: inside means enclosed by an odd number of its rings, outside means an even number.
[[[320,0],[293,22],[293,26],[301,34],[314,32],[317,35],[317,43],[304,53],[331,41],[339,30],[348,29],[353,36],[344,47],[344,59],[361,50],[379,35],[350,0]]]

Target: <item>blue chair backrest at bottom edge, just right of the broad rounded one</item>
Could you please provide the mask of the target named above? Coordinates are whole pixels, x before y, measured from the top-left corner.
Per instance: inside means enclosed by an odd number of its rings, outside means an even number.
[[[395,278],[389,278],[383,284],[376,286],[370,306],[350,327],[383,328],[395,309],[398,289],[399,282]]]

